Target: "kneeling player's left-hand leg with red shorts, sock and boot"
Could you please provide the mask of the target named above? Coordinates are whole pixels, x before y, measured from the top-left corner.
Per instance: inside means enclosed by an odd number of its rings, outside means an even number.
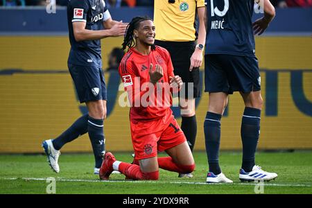
[[[107,153],[100,169],[100,179],[108,180],[112,171],[119,171],[126,179],[158,180],[157,141],[164,126],[162,120],[145,123],[130,121],[136,162],[132,164],[121,162],[116,160],[112,153]]]

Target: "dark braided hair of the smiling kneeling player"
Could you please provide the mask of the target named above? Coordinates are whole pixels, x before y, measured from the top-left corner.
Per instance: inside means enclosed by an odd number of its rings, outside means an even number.
[[[134,17],[130,23],[127,26],[126,32],[125,32],[125,37],[123,38],[123,50],[125,50],[125,48],[128,46],[128,48],[132,48],[133,46],[135,46],[135,37],[133,35],[133,31],[137,30],[137,28],[139,28],[140,22],[141,21],[146,21],[146,20],[151,20],[153,21],[153,19],[150,19],[150,17],[148,16],[144,16],[144,17]],[[153,44],[152,46],[152,50],[155,50],[155,44]]]

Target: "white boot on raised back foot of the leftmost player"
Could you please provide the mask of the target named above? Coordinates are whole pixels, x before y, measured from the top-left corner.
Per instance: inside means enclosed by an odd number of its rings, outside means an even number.
[[[60,150],[55,150],[52,144],[52,139],[42,142],[42,148],[48,157],[49,165],[55,173],[60,172],[60,166],[58,166],[58,157],[60,156]]]

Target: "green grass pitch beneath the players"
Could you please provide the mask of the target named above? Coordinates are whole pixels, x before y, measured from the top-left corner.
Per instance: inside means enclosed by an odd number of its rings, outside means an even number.
[[[116,159],[132,162],[131,153],[114,153]],[[109,182],[100,182],[93,174],[92,154],[60,155],[60,173],[54,173],[45,155],[0,155],[0,193],[46,193],[47,177],[56,178],[56,193],[255,193],[255,183],[241,183],[241,153],[220,153],[223,173],[234,184],[206,184],[207,157],[195,152],[193,178],[178,178],[177,173],[160,170],[158,182],[124,181],[112,174]],[[164,155],[159,155],[164,156]],[[295,153],[257,153],[257,164],[279,177],[265,182],[264,193],[312,193],[312,151]]]

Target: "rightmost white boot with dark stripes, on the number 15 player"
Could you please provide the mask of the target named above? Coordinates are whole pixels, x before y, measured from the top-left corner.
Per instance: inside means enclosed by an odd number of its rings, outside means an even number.
[[[266,171],[263,171],[260,166],[254,166],[252,168],[252,171],[249,173],[246,173],[242,168],[239,171],[239,180],[245,182],[251,182],[251,181],[270,181],[277,177],[277,173],[269,173]]]

